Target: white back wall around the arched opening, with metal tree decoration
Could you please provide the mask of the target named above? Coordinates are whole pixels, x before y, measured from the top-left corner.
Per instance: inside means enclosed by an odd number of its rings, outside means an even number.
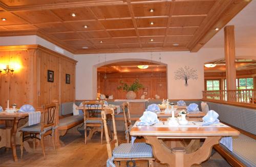
[[[100,55],[100,61],[98,56]],[[151,52],[108,53],[108,54],[76,54],[76,99],[95,99],[97,93],[97,66],[127,59],[143,59],[151,61]],[[239,58],[256,59],[256,48],[237,48]],[[204,90],[205,62],[224,58],[224,48],[202,48],[197,53],[187,51],[161,52],[161,62],[167,64],[167,96],[169,99],[200,99]],[[153,52],[153,61],[159,61],[159,52]],[[197,70],[198,79],[175,80],[175,71],[184,66]]]

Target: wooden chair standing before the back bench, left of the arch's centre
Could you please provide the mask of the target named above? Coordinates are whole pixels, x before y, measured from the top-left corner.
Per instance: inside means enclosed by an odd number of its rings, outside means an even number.
[[[83,105],[83,120],[84,120],[84,144],[87,142],[87,128],[89,127],[89,137],[91,138],[95,131],[100,128],[101,144],[103,138],[103,123],[100,115],[98,116],[98,110],[103,109],[103,102],[89,101],[82,102]]]

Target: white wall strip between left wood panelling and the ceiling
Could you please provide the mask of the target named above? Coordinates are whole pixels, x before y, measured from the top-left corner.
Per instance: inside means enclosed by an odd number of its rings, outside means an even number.
[[[36,35],[29,36],[13,36],[13,37],[0,37],[0,46],[14,46],[14,45],[41,45],[53,51],[66,55],[69,58],[74,59],[74,54],[54,45],[53,43],[42,39]],[[61,51],[56,50],[58,47]]]

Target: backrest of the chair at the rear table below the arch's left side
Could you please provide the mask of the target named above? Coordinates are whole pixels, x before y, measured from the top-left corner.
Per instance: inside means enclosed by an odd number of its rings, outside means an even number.
[[[83,101],[82,105],[84,118],[98,117],[98,110],[103,110],[103,101]]]

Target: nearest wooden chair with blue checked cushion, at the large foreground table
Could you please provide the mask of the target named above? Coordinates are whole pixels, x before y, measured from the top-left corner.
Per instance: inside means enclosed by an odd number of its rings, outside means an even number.
[[[112,125],[114,137],[110,141],[108,124],[106,122],[107,115],[112,117]],[[155,158],[153,157],[152,148],[146,143],[123,143],[118,145],[117,140],[117,130],[115,123],[115,113],[113,108],[104,108],[101,112],[101,117],[103,120],[105,137],[106,137],[106,150],[108,151],[107,165],[114,166],[115,161],[117,166],[120,165],[120,161],[135,161],[135,160],[148,160],[148,166],[154,166]]]

